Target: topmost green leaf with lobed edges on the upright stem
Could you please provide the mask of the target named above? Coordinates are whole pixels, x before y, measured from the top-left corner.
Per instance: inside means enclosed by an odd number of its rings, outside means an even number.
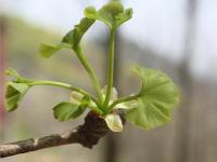
[[[103,22],[111,29],[116,29],[132,17],[132,9],[124,10],[122,3],[111,1],[99,11],[97,11],[94,6],[86,8],[85,15],[88,18]]]

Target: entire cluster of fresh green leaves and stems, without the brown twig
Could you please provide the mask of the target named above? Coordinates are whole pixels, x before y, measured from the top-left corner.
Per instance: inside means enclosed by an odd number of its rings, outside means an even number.
[[[12,76],[14,80],[7,84],[7,110],[14,111],[31,86],[52,85],[71,91],[69,99],[53,108],[54,118],[59,121],[76,119],[87,109],[101,116],[114,132],[123,130],[122,119],[118,114],[119,109],[125,111],[126,120],[144,130],[154,129],[169,121],[173,110],[179,102],[179,91],[166,73],[136,66],[135,72],[141,78],[141,89],[137,94],[118,97],[116,89],[113,87],[115,31],[131,17],[132,9],[124,9],[122,3],[117,1],[112,1],[100,10],[88,6],[85,9],[85,17],[63,37],[60,44],[41,44],[39,48],[40,55],[46,58],[51,57],[61,49],[73,50],[87,70],[97,96],[63,82],[26,79],[15,70],[9,69],[7,75]],[[107,85],[103,89],[94,70],[82,54],[80,45],[84,35],[95,21],[104,23],[111,30],[110,70]]]

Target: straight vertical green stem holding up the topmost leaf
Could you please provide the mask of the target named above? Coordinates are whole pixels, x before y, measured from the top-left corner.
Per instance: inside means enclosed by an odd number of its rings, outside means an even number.
[[[114,53],[115,53],[115,30],[111,30],[111,38],[110,38],[110,55],[108,55],[108,70],[107,70],[107,90],[106,96],[103,107],[106,108],[110,103],[110,97],[113,87],[113,80],[114,80]]]

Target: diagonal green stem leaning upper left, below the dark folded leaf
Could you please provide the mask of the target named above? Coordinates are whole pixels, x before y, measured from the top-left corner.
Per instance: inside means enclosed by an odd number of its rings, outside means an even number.
[[[81,51],[80,48],[77,49],[76,54],[77,54],[79,60],[81,62],[82,66],[87,70],[87,72],[89,75],[89,78],[90,78],[90,80],[92,82],[92,85],[93,85],[93,87],[94,87],[94,90],[95,90],[95,92],[98,94],[100,104],[102,104],[103,103],[103,96],[102,96],[102,93],[101,93],[101,86],[100,86],[100,82],[98,81],[93,69],[89,65],[87,58],[84,56],[82,51]]]

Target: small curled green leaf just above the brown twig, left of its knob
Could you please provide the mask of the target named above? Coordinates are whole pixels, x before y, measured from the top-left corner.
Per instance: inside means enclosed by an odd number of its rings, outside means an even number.
[[[59,121],[68,121],[71,119],[76,119],[85,112],[89,103],[89,96],[84,96],[79,104],[64,102],[53,108],[53,114]]]

